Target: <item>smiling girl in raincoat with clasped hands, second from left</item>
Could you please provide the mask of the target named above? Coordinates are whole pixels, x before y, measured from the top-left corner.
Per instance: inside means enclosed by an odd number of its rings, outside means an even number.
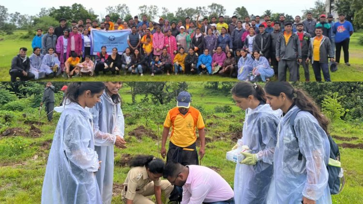
[[[101,169],[96,173],[98,187],[104,204],[112,199],[114,145],[126,148],[123,140],[125,123],[121,110],[119,90],[122,82],[105,82],[105,92],[101,102],[92,109],[94,149],[102,161]]]

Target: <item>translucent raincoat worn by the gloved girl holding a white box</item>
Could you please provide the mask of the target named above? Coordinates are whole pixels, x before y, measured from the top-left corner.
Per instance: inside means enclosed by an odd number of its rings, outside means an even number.
[[[273,111],[269,104],[248,108],[243,123],[242,144],[257,154],[256,165],[237,163],[234,176],[234,199],[236,204],[266,203],[273,173],[273,153],[276,131],[282,111]]]

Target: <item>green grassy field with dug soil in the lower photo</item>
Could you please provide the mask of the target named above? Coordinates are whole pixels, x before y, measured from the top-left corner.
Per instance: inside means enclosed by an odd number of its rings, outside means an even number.
[[[241,137],[244,112],[235,106],[229,95],[204,89],[203,83],[188,84],[188,91],[193,95],[192,105],[203,107],[202,113],[206,124],[207,146],[201,165],[217,171],[233,187],[235,163],[227,161],[225,155]],[[135,119],[133,117],[133,112],[130,111],[133,110],[133,105],[130,105],[132,102],[130,87],[124,86],[121,89],[121,96],[125,116],[125,139],[128,142],[128,148],[115,150],[113,191],[113,203],[115,204],[122,203],[121,184],[129,170],[127,161],[136,154],[159,156],[158,144],[160,144],[162,130],[162,126],[159,125],[160,131],[158,131],[158,125],[153,122],[155,118],[151,118],[146,126],[145,118]],[[138,95],[137,103],[140,103],[142,98],[143,96]],[[56,102],[56,104],[58,103]],[[224,105],[229,105],[232,112],[214,112],[216,106]],[[23,113],[27,114],[26,117],[23,116]],[[0,129],[0,203],[33,204],[41,201],[45,166],[60,115],[55,114],[51,123],[46,122],[44,111],[42,117],[42,124],[38,125],[38,110],[27,109],[24,112],[17,112],[16,120],[9,127]],[[164,118],[165,115],[160,119],[164,120]],[[35,128],[30,128],[29,121],[34,123]],[[140,126],[144,126],[146,130]],[[15,129],[15,133],[11,134],[13,136],[2,136],[3,131],[8,128],[17,129]],[[40,132],[36,128],[39,128]],[[333,203],[362,203],[363,124],[338,121],[333,124],[332,129],[333,138],[338,144],[346,143],[344,146],[352,146],[352,148],[344,148],[343,145],[340,145],[341,161],[347,183],[341,194],[332,196]],[[147,133],[148,131],[151,132]]]

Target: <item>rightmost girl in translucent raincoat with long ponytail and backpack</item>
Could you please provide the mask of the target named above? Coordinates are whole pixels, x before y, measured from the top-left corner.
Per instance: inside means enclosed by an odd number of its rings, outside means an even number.
[[[328,119],[311,98],[288,82],[270,82],[265,91],[272,110],[284,112],[277,128],[273,179],[267,203],[331,204],[327,171]],[[290,119],[294,113],[297,115],[292,127]]]

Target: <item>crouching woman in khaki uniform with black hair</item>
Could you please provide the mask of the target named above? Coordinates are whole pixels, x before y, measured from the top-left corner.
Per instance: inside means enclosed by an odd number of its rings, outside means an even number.
[[[156,203],[162,204],[161,192],[169,198],[173,186],[161,180],[164,161],[152,155],[138,155],[130,162],[130,171],[123,183],[122,199],[126,204],[154,204],[146,196],[155,195]]]

